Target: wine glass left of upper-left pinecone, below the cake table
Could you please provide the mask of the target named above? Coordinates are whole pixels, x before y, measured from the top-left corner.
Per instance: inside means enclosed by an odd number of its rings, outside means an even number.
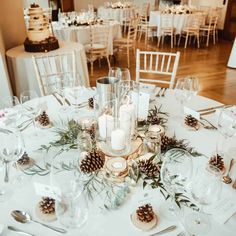
[[[35,134],[37,134],[35,121],[41,112],[38,94],[34,90],[24,91],[20,94],[20,101],[23,109],[26,111],[26,116],[28,116],[33,123]]]

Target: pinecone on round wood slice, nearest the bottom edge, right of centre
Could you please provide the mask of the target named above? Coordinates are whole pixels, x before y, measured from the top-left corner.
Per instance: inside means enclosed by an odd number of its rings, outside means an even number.
[[[135,227],[147,231],[154,228],[157,224],[157,216],[150,204],[139,206],[131,215],[131,221]]]

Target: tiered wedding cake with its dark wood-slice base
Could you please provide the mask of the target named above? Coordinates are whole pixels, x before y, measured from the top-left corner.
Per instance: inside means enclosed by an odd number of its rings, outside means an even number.
[[[28,37],[24,42],[27,52],[47,52],[59,48],[58,40],[51,36],[49,18],[43,9],[33,3],[29,8]]]

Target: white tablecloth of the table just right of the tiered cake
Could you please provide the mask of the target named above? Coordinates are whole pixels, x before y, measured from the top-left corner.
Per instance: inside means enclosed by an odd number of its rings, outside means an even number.
[[[104,30],[104,25],[96,25],[99,30]],[[83,45],[90,43],[89,26],[60,26],[58,22],[53,22],[53,30],[57,38],[67,42],[78,42]],[[109,55],[113,55],[113,40],[121,38],[121,27],[119,22],[110,22],[108,35]]]

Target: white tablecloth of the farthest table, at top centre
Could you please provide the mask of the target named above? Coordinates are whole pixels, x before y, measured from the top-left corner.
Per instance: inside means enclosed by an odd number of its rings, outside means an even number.
[[[102,19],[114,19],[122,23],[124,19],[134,18],[136,14],[136,8],[123,8],[123,9],[113,9],[113,8],[98,8],[98,17]]]

